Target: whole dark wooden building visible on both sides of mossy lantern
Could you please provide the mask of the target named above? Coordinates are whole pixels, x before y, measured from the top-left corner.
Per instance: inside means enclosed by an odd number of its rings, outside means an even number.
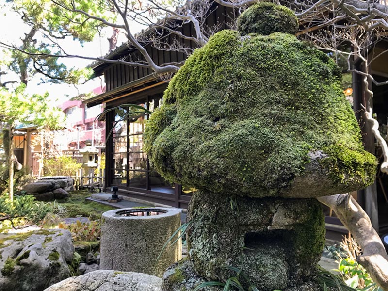
[[[227,15],[227,16],[226,16]],[[219,25],[219,29],[228,27],[228,21],[233,21],[234,12],[225,7],[212,7],[207,18],[208,25]],[[193,28],[183,25],[181,32],[191,35]],[[171,37],[168,36],[167,38]],[[167,39],[169,41],[169,39]],[[189,40],[182,40],[187,46],[195,47]],[[380,54],[386,44],[381,43],[373,48],[378,58],[372,63],[372,74],[376,80],[386,81],[388,77],[388,54]],[[157,65],[182,62],[186,55],[183,52],[158,50],[149,45],[145,46],[149,55]],[[131,60],[144,60],[144,57],[134,48],[122,45],[106,56],[107,59],[117,60],[127,58]],[[360,65],[355,62],[355,66]],[[155,76],[149,68],[126,66],[121,64],[108,64],[97,62],[92,65],[96,76],[105,78],[106,92],[84,101],[88,106],[105,103],[108,111],[105,116],[106,132],[112,132],[106,145],[106,186],[119,187],[119,193],[132,198],[162,203],[174,207],[186,208],[192,194],[191,189],[181,185],[167,183],[154,171],[143,152],[143,130],[148,116],[146,114],[134,115],[130,119],[122,119],[125,113],[131,110],[125,104],[140,104],[151,111],[158,107],[167,83]],[[375,144],[373,135],[368,132],[368,126],[362,120],[360,104],[365,104],[365,87],[360,75],[353,76],[353,98],[356,117],[364,131],[366,148],[380,155],[379,145]],[[384,101],[384,94],[388,85],[374,86],[373,106],[381,124],[388,124],[388,103]],[[387,127],[387,126],[385,126]],[[386,131],[388,132],[388,130]],[[361,206],[372,218],[373,226],[380,233],[388,232],[388,178],[379,173],[376,182],[365,190],[353,193]],[[332,211],[327,210],[327,229],[332,233],[347,233]],[[338,236],[333,238],[338,239]]]

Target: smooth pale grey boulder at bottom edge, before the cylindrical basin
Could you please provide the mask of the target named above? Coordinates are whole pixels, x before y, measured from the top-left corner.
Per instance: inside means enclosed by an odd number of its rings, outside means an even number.
[[[44,291],[161,291],[162,279],[134,272],[99,270],[71,277]]]

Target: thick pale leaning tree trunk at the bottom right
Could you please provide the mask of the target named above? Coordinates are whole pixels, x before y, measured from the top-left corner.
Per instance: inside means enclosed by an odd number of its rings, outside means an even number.
[[[368,271],[374,282],[388,291],[387,252],[365,211],[350,194],[324,196],[318,200],[336,212],[363,251],[357,262]]]

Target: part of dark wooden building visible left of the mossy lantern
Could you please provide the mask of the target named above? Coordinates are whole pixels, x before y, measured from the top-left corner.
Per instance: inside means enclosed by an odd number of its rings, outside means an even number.
[[[230,8],[213,5],[206,17],[208,27],[218,30],[228,28],[227,23],[235,19]],[[180,25],[180,32],[192,35],[194,28],[189,24]],[[192,32],[193,31],[193,32]],[[151,33],[152,30],[143,32]],[[172,43],[173,35],[166,36],[165,41]],[[195,48],[191,40],[176,39],[182,46]],[[183,51],[159,50],[145,45],[148,54],[157,65],[183,62],[187,55]],[[144,57],[136,49],[122,45],[106,56],[108,59],[144,61]],[[106,109],[120,106],[106,113],[106,132],[112,132],[106,144],[106,186],[117,185],[120,194],[143,199],[164,205],[186,208],[192,194],[178,184],[167,183],[154,171],[143,152],[143,130],[148,116],[138,114],[130,119],[122,116],[130,108],[125,104],[140,104],[151,111],[158,107],[167,82],[162,81],[149,68],[108,64],[97,62],[92,65],[96,76],[104,75],[106,92],[84,101],[88,106],[105,103]]]

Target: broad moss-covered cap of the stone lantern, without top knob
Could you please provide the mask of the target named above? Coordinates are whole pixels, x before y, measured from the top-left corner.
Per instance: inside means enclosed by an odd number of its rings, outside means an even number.
[[[213,193],[317,197],[374,179],[376,159],[361,144],[339,67],[291,34],[216,33],[163,99],[145,149],[170,181]]]

